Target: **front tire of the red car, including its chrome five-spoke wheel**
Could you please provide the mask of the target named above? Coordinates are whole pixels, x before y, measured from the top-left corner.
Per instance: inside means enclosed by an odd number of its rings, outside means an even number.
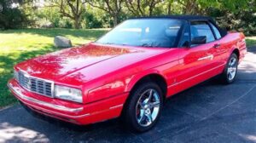
[[[162,107],[163,92],[160,87],[153,82],[139,84],[125,103],[123,119],[126,127],[135,132],[152,129],[159,120]]]

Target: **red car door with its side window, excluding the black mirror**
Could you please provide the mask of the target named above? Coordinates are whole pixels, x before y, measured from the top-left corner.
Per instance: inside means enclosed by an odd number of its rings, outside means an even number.
[[[204,44],[189,44],[195,37],[206,36]],[[216,38],[207,21],[193,21],[185,28],[181,40],[179,57],[179,74],[177,85],[179,90],[187,89],[197,83],[201,83],[216,72],[212,72],[218,66],[216,61]]]

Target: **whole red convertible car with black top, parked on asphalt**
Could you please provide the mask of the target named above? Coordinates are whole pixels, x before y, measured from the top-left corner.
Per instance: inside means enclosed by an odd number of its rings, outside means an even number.
[[[245,36],[205,16],[125,20],[96,42],[23,61],[8,86],[33,112],[70,123],[123,117],[151,129],[166,98],[218,75],[236,78]]]

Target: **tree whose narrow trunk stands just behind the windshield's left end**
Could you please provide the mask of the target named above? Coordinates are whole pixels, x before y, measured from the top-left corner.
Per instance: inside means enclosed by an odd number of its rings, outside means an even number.
[[[87,0],[90,6],[106,11],[113,18],[113,26],[117,26],[124,0]]]

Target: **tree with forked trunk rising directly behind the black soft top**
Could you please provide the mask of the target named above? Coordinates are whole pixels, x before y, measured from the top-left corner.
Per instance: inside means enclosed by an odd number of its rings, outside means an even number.
[[[162,0],[125,0],[125,5],[136,16],[152,16],[155,6]]]

